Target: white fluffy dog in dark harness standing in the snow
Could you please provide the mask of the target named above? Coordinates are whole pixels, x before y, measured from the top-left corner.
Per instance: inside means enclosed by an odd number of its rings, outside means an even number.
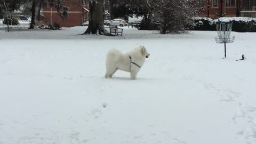
[[[145,46],[139,46],[133,51],[121,53],[118,50],[111,50],[107,54],[105,78],[112,77],[116,71],[123,70],[131,73],[131,79],[136,79],[140,68],[149,57]]]

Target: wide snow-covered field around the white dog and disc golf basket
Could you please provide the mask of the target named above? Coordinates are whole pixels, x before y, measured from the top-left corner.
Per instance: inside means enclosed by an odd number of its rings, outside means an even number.
[[[124,36],[0,31],[0,143],[256,143],[255,33]],[[137,80],[105,79],[108,50],[145,45]],[[246,60],[241,59],[245,54]]]

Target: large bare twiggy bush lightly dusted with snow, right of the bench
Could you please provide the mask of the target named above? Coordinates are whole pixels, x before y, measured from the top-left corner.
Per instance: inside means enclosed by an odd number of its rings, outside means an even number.
[[[185,32],[193,25],[191,18],[197,15],[197,11],[198,7],[190,1],[155,1],[154,14],[161,34]]]

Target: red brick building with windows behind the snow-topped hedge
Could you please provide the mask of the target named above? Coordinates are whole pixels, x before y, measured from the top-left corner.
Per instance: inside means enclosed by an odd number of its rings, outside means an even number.
[[[199,0],[199,2],[202,6],[200,17],[256,17],[256,0]]]

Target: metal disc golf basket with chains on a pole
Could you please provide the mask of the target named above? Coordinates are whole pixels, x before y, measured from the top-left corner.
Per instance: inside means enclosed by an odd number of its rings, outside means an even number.
[[[223,44],[225,47],[225,58],[227,57],[226,54],[226,43],[233,43],[235,41],[235,36],[230,36],[232,30],[232,21],[229,20],[222,20],[216,22],[216,29],[218,36],[215,37],[215,41],[218,44]]]

